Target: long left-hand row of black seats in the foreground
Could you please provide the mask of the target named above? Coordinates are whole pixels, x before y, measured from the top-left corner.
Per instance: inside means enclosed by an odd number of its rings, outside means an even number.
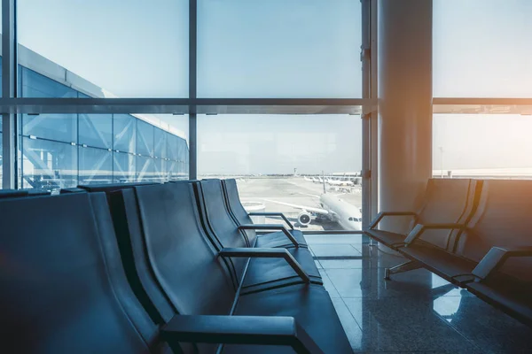
[[[4,198],[0,223],[2,351],[352,351],[303,235],[256,235],[235,181]]]

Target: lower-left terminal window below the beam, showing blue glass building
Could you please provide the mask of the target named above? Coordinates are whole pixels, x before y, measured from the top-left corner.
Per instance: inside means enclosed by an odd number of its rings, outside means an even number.
[[[19,161],[23,188],[60,189],[77,184],[188,178],[188,117],[43,114],[22,115],[21,119],[24,124],[20,127]],[[62,128],[77,127],[77,122],[79,129],[64,133]],[[54,124],[63,127],[55,128]],[[155,132],[162,143],[157,150]],[[168,158],[168,150],[172,158]]]

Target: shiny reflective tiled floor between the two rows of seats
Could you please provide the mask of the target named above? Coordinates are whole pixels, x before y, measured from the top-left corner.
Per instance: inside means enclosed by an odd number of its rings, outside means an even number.
[[[306,235],[356,352],[532,353],[532,329],[361,235]]]

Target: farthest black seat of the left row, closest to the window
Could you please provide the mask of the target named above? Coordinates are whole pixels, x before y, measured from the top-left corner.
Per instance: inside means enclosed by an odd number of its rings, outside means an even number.
[[[240,203],[237,181],[234,179],[217,181],[222,183],[227,209],[230,212],[231,217],[237,222],[237,225],[240,226],[254,224],[253,220],[246,212],[246,209],[244,209],[244,206]],[[274,214],[276,214],[276,216],[281,215],[280,213]],[[305,240],[301,230],[295,230],[292,228],[289,231],[300,246],[307,246],[307,240]],[[293,242],[290,242],[290,240],[286,238],[286,235],[282,231],[262,234],[258,237],[254,229],[246,229],[244,232],[246,233],[248,241],[254,247],[294,247]]]

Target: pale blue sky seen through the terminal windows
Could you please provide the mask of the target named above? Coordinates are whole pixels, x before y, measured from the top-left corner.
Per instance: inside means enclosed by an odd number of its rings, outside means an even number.
[[[117,96],[187,96],[187,11],[188,0],[19,0],[19,39]],[[199,0],[198,13],[199,96],[361,96],[359,0]],[[434,96],[532,96],[530,13],[528,0],[434,0]],[[200,172],[360,169],[358,117],[216,117],[200,117]],[[532,167],[515,154],[532,152],[531,121],[436,117],[434,168],[440,146],[443,168]]]

